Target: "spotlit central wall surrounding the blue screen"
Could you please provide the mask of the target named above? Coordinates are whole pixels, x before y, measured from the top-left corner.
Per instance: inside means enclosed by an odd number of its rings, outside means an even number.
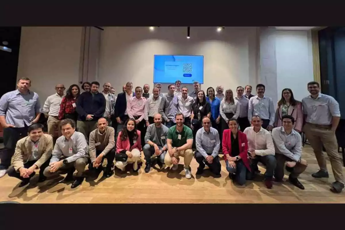
[[[117,93],[131,81],[134,87],[153,87],[154,54],[204,56],[204,86],[223,85],[236,91],[237,86],[256,84],[256,28],[226,27],[105,27],[101,33],[99,59],[100,84],[110,82]],[[167,92],[163,84],[162,92]],[[188,86],[189,91],[193,85]]]

